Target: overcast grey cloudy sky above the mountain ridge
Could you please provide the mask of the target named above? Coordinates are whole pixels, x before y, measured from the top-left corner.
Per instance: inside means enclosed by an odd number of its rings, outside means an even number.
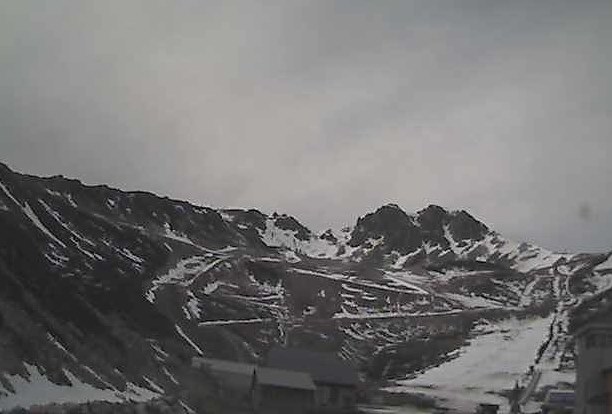
[[[314,229],[612,249],[612,1],[0,2],[0,160]]]

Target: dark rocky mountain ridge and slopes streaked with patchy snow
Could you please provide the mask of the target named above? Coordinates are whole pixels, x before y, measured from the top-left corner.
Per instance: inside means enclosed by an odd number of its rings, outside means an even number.
[[[0,410],[79,389],[214,411],[226,401],[190,358],[257,360],[277,343],[336,352],[397,390],[509,324],[533,332],[530,364],[571,372],[568,312],[608,289],[610,267],[439,206],[385,205],[319,234],[0,165]]]

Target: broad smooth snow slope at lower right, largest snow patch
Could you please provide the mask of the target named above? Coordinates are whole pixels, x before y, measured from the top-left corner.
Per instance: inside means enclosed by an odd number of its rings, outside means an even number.
[[[493,332],[472,339],[457,358],[387,390],[430,395],[443,406],[462,410],[473,410],[481,402],[506,404],[497,394],[511,389],[534,363],[550,322],[551,318],[500,322]]]

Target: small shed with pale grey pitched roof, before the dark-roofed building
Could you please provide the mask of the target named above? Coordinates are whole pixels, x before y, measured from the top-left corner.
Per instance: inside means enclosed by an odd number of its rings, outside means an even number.
[[[253,408],[266,414],[310,413],[315,390],[307,373],[259,367],[253,380]]]

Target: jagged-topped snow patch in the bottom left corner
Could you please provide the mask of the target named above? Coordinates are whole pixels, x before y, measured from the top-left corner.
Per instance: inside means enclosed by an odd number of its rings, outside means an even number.
[[[132,383],[128,383],[125,391],[118,391],[114,388],[95,388],[81,381],[66,369],[63,371],[71,385],[57,385],[42,375],[35,366],[25,364],[25,367],[28,373],[26,378],[19,375],[6,375],[15,392],[0,392],[0,410],[16,407],[29,408],[34,405],[53,403],[147,401],[159,397],[158,393]]]

